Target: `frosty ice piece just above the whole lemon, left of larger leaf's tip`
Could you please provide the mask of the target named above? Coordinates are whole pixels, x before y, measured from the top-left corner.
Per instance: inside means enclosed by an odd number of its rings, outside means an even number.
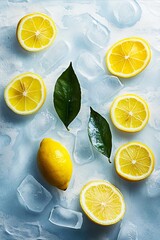
[[[33,139],[39,139],[51,128],[54,129],[56,122],[56,117],[46,110],[36,114],[29,127],[27,126],[27,131],[29,129],[28,132]]]

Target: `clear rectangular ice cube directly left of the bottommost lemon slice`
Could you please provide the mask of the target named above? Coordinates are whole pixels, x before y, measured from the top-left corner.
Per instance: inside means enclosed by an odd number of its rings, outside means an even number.
[[[81,212],[56,206],[51,211],[49,221],[57,226],[80,229],[83,217]]]

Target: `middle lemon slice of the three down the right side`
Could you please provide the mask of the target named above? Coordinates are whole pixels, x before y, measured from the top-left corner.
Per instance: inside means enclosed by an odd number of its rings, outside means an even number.
[[[147,103],[136,94],[118,96],[111,105],[110,114],[113,124],[125,132],[142,130],[150,116]]]

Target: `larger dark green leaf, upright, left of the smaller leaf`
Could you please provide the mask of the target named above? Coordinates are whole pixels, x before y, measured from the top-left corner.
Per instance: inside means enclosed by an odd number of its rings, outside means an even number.
[[[77,116],[81,106],[81,89],[72,63],[57,79],[54,106],[59,118],[68,129],[68,125]]]

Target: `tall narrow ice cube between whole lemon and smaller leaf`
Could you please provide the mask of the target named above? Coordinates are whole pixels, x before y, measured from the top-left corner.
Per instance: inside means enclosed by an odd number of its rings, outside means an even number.
[[[94,154],[86,129],[77,132],[74,158],[78,164],[94,161]]]

